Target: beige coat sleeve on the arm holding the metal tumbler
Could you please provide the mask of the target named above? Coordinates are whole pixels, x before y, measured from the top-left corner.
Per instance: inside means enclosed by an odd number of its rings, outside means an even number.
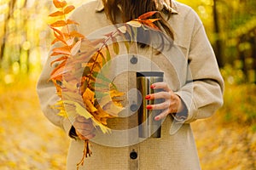
[[[223,105],[224,80],[204,26],[194,13],[195,24],[190,37],[188,71],[191,78],[176,94],[187,107],[182,122],[207,118]],[[178,116],[178,113],[177,113]]]

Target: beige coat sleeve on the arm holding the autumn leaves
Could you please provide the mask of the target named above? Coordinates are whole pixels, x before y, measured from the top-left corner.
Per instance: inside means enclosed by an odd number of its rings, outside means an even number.
[[[50,62],[53,58],[49,57],[44,64],[43,71],[38,79],[37,92],[38,98],[41,105],[41,109],[44,112],[50,122],[55,126],[61,127],[68,134],[72,127],[71,122],[68,118],[58,115],[58,110],[53,109],[53,105],[60,100],[56,94],[55,85],[49,80],[50,73],[54,69],[54,65],[50,66]]]

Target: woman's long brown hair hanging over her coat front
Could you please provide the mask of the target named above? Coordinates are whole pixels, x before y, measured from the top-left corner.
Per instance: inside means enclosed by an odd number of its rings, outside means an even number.
[[[170,4],[171,1],[172,0],[170,0]],[[102,0],[102,2],[104,4],[105,13],[113,24],[118,24],[117,17],[119,14],[122,17],[122,22],[125,23],[129,20],[137,19],[141,14],[158,10],[155,0]],[[160,13],[154,14],[153,18],[160,19],[155,21],[154,24],[173,39],[172,28],[165,19],[164,14],[167,14],[168,20],[172,13],[163,9]]]

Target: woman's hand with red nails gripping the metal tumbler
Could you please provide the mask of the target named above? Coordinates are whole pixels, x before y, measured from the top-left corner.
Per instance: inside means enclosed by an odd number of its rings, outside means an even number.
[[[163,110],[158,116],[154,117],[155,121],[165,118],[169,114],[177,113],[183,111],[183,102],[177,94],[174,94],[172,89],[168,87],[166,82],[155,82],[150,86],[153,89],[162,88],[163,91],[148,94],[145,99],[165,99],[163,103],[155,105],[147,105],[148,110]]]

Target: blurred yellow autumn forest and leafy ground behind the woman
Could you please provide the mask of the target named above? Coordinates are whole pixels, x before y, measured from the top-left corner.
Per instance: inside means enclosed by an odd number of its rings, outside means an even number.
[[[67,0],[75,5],[86,0]],[[256,1],[179,0],[200,15],[224,76],[224,106],[192,123],[203,170],[256,169]],[[35,91],[52,1],[0,1],[0,169],[64,169],[68,138]]]

